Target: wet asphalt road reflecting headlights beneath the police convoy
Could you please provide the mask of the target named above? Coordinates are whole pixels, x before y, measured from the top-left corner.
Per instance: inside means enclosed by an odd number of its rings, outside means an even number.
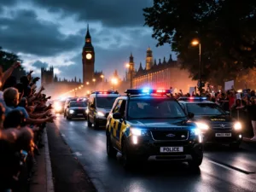
[[[162,162],[125,171],[120,154],[108,159],[103,129],[89,128],[85,120],[67,121],[62,115],[55,125],[98,191],[256,191],[256,148],[244,143],[238,151],[207,148],[197,172],[186,164]]]

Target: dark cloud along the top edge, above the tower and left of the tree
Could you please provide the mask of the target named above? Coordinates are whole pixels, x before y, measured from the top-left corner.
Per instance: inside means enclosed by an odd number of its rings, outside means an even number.
[[[143,8],[152,0],[34,0],[53,12],[74,14],[79,20],[102,21],[103,26],[143,26]]]

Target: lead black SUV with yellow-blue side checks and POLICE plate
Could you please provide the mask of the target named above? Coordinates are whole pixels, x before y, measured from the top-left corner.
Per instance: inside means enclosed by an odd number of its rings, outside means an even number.
[[[202,137],[170,90],[126,90],[108,115],[107,153],[122,154],[123,166],[146,160],[187,161],[198,167],[203,159]]]

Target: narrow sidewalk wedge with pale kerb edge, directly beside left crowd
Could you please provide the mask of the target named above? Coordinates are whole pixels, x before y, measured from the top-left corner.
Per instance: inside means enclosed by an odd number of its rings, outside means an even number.
[[[36,155],[37,166],[30,183],[30,192],[54,192],[51,164],[49,160],[49,143],[46,131],[43,136],[44,148],[40,149],[40,155]]]

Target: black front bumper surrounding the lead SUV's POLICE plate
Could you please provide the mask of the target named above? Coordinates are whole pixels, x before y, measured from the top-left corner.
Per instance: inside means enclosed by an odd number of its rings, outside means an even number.
[[[162,153],[161,147],[183,147],[183,152]],[[195,141],[183,142],[155,142],[139,141],[134,144],[129,138],[129,149],[132,156],[143,157],[148,160],[189,161],[203,158],[203,144]]]

